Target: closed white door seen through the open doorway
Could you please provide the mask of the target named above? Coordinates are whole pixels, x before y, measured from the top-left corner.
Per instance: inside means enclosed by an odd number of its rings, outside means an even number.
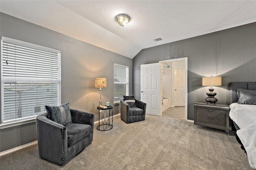
[[[185,106],[185,69],[174,69],[174,107]]]

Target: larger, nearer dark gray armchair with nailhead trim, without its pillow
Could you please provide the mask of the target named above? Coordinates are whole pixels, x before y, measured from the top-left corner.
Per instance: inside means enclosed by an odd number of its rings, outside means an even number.
[[[36,117],[38,151],[41,158],[63,165],[92,142],[94,114],[70,109],[72,124],[64,127],[47,118]]]

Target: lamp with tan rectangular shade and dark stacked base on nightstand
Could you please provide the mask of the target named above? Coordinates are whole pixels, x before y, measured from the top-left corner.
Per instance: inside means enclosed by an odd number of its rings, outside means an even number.
[[[205,98],[205,101],[207,101],[208,104],[215,104],[218,99],[214,97],[217,93],[213,92],[214,88],[212,88],[212,86],[221,86],[221,77],[202,77],[202,86],[211,86],[209,92],[206,93],[208,97]]]

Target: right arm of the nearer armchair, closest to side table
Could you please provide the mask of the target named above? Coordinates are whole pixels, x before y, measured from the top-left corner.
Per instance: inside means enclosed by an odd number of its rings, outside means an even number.
[[[88,113],[84,111],[79,111],[76,109],[70,109],[72,123],[81,123],[92,126],[92,133],[94,129],[94,117],[93,113]]]

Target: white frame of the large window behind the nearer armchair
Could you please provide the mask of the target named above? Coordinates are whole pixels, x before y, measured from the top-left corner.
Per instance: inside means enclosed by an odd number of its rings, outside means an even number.
[[[7,76],[4,77],[3,76],[3,64],[4,64],[4,57],[3,57],[3,42],[6,43],[13,43],[16,45],[22,45],[24,47],[28,47],[29,49],[36,49],[36,50],[43,50],[46,52],[51,52],[51,53],[55,53],[55,55],[57,56],[57,59],[55,59],[55,62],[57,62],[57,67],[58,67],[58,75],[57,75],[57,79],[52,79],[52,78],[40,78],[40,77],[32,77],[31,79],[28,78],[16,78],[16,77],[12,77],[12,76]],[[15,47],[16,48],[16,47]],[[15,54],[16,55],[16,54]],[[24,82],[30,82],[34,81],[34,82],[39,82],[40,81],[46,81],[46,82],[52,82],[52,83],[56,83],[56,89],[57,89],[57,103],[58,105],[60,105],[61,103],[61,63],[60,63],[60,57],[61,57],[61,53],[60,50],[58,49],[53,49],[50,47],[45,47],[42,45],[37,45],[37,44],[33,44],[33,43],[28,43],[28,42],[23,42],[20,40],[15,40],[12,38],[7,38],[4,36],[1,36],[1,114],[0,114],[0,129],[2,128],[8,128],[8,127],[13,127],[13,126],[17,126],[17,125],[23,125],[26,123],[32,123],[35,122],[36,120],[36,116],[39,114],[37,113],[37,115],[28,115],[26,117],[22,117],[21,119],[12,119],[12,120],[3,120],[3,115],[4,115],[4,83],[10,81],[10,79],[12,79],[12,81],[24,81]],[[37,62],[36,62],[37,63]],[[37,93],[35,93],[37,94]],[[54,93],[56,94],[56,93]],[[36,106],[34,106],[36,107]],[[15,113],[16,115],[17,113]]]

